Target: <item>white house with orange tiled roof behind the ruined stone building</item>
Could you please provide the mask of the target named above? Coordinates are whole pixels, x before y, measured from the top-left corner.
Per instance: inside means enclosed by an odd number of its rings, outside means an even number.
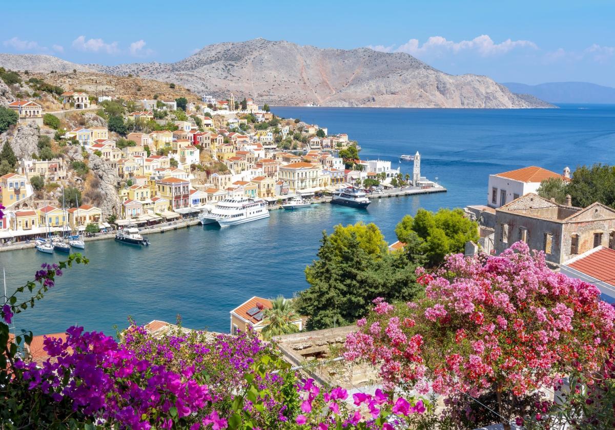
[[[549,178],[567,181],[570,178],[570,169],[566,167],[563,175],[537,166],[490,174],[487,205],[499,208],[527,193],[537,193],[541,182]]]

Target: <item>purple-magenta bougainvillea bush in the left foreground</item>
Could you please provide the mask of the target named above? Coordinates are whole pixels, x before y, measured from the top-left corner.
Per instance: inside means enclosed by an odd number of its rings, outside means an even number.
[[[19,346],[31,342],[31,333],[10,340],[7,324],[42,299],[73,262],[87,260],[73,254],[44,264],[35,281],[2,304],[3,428],[392,430],[391,423],[404,425],[425,410],[423,401],[380,390],[349,396],[343,388],[317,386],[253,332],[212,338],[178,327],[153,337],[132,324],[116,340],[69,327],[66,340],[44,340],[47,361],[29,362]]]

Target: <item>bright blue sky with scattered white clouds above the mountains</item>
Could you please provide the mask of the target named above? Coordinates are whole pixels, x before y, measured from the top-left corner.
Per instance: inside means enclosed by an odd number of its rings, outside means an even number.
[[[75,63],[172,62],[208,44],[256,37],[322,48],[405,52],[437,69],[498,82],[615,87],[615,2],[73,1],[5,2],[0,52]]]

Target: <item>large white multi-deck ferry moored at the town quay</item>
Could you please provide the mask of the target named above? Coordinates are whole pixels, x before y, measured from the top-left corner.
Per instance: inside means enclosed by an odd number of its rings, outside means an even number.
[[[217,222],[220,227],[243,224],[269,217],[267,202],[262,198],[227,197],[218,202],[208,213],[199,215],[201,224]]]

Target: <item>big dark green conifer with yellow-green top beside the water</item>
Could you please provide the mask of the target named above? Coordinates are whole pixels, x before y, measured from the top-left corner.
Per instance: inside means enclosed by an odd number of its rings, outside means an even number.
[[[351,324],[365,316],[372,300],[411,300],[422,291],[416,264],[387,252],[374,224],[337,225],[323,232],[318,259],[306,268],[310,287],[300,292],[297,309],[308,329]]]

